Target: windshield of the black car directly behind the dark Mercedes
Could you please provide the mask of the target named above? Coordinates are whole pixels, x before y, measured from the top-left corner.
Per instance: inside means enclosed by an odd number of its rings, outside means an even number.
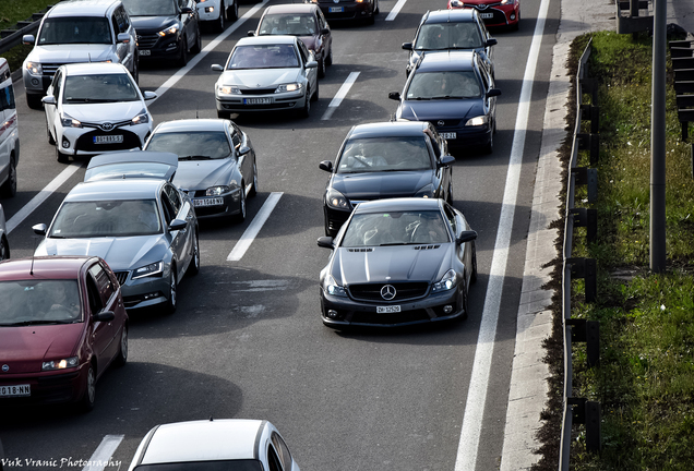
[[[421,137],[355,138],[345,144],[337,161],[337,173],[429,170],[429,147]]]

